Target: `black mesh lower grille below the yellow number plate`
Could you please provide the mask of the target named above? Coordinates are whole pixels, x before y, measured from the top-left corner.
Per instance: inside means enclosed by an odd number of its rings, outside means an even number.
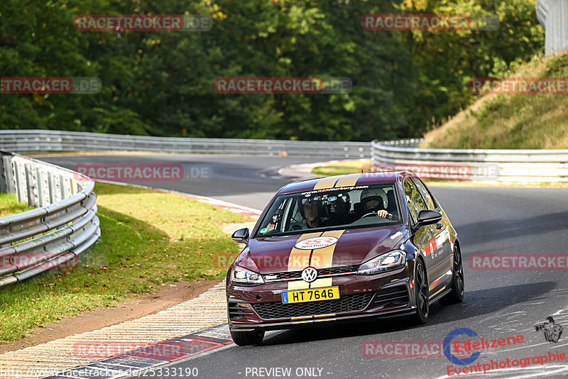
[[[302,302],[297,304],[266,302],[252,304],[252,306],[261,319],[289,319],[290,317],[359,311],[365,309],[371,297],[373,297],[373,292],[346,295],[340,299],[322,300],[320,302]]]

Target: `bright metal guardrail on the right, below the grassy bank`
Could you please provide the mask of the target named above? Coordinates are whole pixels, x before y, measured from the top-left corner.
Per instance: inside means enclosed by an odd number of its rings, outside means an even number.
[[[568,182],[568,150],[416,148],[420,141],[373,141],[373,170],[412,170],[440,180]]]

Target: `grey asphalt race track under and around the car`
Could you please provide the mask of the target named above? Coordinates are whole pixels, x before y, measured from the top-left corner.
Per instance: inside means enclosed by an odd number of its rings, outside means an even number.
[[[267,167],[308,163],[322,158],[241,157],[222,155],[107,155],[41,158],[64,167],[78,163],[208,165],[208,180],[137,182],[153,187],[236,202],[263,209],[287,180],[261,176]],[[456,227],[462,248],[466,294],[464,302],[432,304],[425,326],[405,319],[376,319],[354,324],[275,331],[261,346],[231,344],[195,358],[168,365],[173,372],[197,368],[198,378],[448,378],[448,368],[463,368],[440,357],[402,357],[404,347],[385,348],[383,357],[366,357],[366,341],[443,341],[457,328],[468,328],[484,339],[522,335],[522,344],[481,351],[476,365],[509,358],[520,360],[568,353],[568,275],[565,270],[471,270],[468,256],[476,253],[561,254],[568,246],[568,189],[513,187],[431,187]],[[535,325],[549,316],[564,326],[559,341],[547,342]],[[478,337],[479,338],[479,337]],[[476,339],[479,341],[479,339]],[[361,347],[363,346],[363,350]],[[372,345],[376,346],[376,345]],[[391,344],[391,346],[395,346]],[[389,353],[390,352],[390,353]],[[375,354],[373,351],[371,355]],[[552,359],[552,358],[549,358]],[[525,361],[526,362],[526,361]],[[262,370],[259,370],[262,368]],[[290,375],[283,375],[290,369]],[[568,359],[533,363],[525,368],[499,368],[488,373],[463,373],[459,378],[561,378]],[[148,374],[150,376],[150,374]],[[154,375],[154,377],[159,377]],[[162,374],[163,378],[166,378]],[[171,377],[171,376],[170,376]],[[176,378],[185,376],[177,375]]]

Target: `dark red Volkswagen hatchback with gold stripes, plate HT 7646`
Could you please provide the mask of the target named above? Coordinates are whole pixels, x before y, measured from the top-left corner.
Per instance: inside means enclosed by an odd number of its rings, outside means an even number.
[[[229,268],[229,329],[237,345],[264,332],[361,317],[410,315],[461,302],[457,232],[413,172],[305,180],[275,194]]]

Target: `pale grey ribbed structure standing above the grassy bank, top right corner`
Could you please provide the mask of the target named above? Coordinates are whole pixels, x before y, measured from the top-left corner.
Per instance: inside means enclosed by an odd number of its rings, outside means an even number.
[[[537,0],[537,19],[545,28],[545,54],[568,49],[568,1]]]

